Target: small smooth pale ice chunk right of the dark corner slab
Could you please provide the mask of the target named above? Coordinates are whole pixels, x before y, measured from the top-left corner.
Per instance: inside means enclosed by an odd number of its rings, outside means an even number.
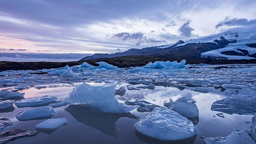
[[[64,118],[56,118],[56,119],[48,119],[40,124],[37,124],[34,128],[40,132],[44,132],[46,134],[52,134],[55,130],[62,126],[66,126],[67,119]]]

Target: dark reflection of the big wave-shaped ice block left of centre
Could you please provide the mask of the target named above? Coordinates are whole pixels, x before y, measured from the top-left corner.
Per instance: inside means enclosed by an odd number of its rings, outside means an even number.
[[[120,134],[116,121],[121,117],[138,119],[130,112],[127,114],[101,112],[86,105],[70,105],[65,108],[78,122],[100,130],[104,134],[118,138]]]

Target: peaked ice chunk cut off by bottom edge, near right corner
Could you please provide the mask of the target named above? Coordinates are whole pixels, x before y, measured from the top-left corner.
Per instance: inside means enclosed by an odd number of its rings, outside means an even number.
[[[235,129],[227,137],[204,138],[205,144],[255,144],[252,138],[244,131]]]

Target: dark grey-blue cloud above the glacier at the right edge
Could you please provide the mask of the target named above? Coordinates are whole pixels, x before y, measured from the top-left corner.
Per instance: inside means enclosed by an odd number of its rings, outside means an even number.
[[[256,25],[256,19],[254,20],[248,20],[247,18],[233,18],[230,19],[228,17],[225,18],[224,21],[219,22],[215,28],[218,28],[220,26],[251,26]]]

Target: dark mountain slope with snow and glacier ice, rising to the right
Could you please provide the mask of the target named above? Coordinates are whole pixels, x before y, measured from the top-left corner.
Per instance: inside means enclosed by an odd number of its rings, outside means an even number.
[[[113,58],[120,56],[164,56],[172,58],[254,59],[256,58],[256,30],[250,32],[223,32],[199,37],[176,44],[132,48],[114,54],[94,54],[81,60]]]

